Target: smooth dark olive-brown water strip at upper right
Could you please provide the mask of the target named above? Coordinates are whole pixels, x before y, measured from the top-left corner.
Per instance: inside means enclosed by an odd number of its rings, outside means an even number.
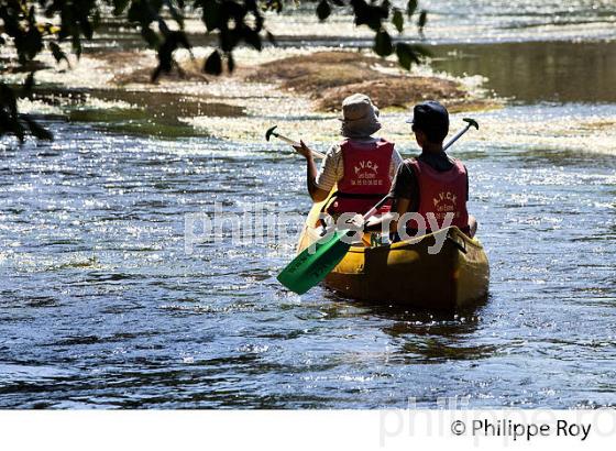
[[[616,102],[616,41],[458,44],[431,48],[433,67],[483,75],[497,96],[524,102]]]

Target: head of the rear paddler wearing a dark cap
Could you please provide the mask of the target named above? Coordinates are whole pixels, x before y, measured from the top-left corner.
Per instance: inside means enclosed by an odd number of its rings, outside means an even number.
[[[435,100],[416,105],[413,118],[407,122],[413,124],[415,139],[420,147],[428,144],[440,145],[449,133],[449,112]]]

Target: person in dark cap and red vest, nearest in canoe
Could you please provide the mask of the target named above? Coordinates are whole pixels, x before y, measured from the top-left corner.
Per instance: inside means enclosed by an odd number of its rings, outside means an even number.
[[[399,217],[405,213],[418,213],[424,219],[426,232],[430,233],[430,216],[439,226],[449,215],[451,226],[457,226],[470,237],[474,237],[477,222],[466,210],[469,200],[469,174],[466,167],[459,161],[451,158],[443,151],[443,141],[449,132],[449,112],[439,102],[429,100],[416,105],[413,118],[407,121],[413,124],[413,132],[421,154],[406,160],[398,168],[391,195],[393,196],[392,211],[398,216],[369,220],[365,230],[378,230],[385,221],[389,222],[393,241],[400,238],[397,232]],[[415,219],[406,224],[406,233],[417,234],[418,222]],[[442,227],[439,227],[442,228]]]

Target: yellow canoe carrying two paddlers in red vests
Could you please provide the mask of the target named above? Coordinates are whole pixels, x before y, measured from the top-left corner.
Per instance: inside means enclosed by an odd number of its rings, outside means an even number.
[[[298,253],[320,238],[317,220],[323,204],[312,206]],[[440,252],[429,252],[440,240]],[[323,284],[346,298],[455,311],[485,300],[488,282],[490,265],[480,241],[450,227],[388,245],[353,244]]]

